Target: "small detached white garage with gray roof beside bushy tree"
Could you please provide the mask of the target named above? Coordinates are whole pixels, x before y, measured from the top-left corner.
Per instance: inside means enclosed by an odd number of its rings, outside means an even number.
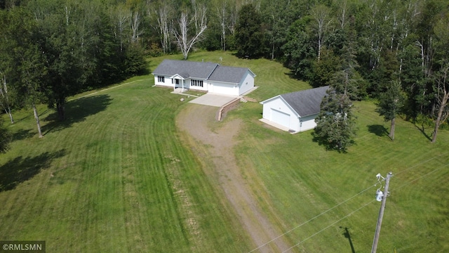
[[[260,102],[263,105],[262,122],[292,132],[307,131],[316,126],[321,101],[329,86],[296,91]]]

